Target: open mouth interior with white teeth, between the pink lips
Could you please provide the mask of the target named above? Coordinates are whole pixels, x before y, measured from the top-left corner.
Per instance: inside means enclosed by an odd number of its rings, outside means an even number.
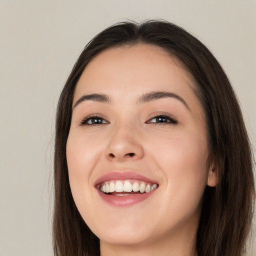
[[[107,195],[125,196],[149,193],[158,187],[156,183],[141,180],[107,180],[97,185],[97,189]]]

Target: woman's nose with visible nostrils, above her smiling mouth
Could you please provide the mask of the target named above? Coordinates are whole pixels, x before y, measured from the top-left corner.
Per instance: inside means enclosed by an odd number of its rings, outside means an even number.
[[[108,160],[118,162],[138,160],[143,155],[142,141],[134,128],[122,126],[112,131],[105,149]]]

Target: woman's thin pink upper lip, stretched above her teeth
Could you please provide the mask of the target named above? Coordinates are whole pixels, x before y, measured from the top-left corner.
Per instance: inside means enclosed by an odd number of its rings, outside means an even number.
[[[94,186],[107,180],[126,180],[126,179],[139,179],[148,183],[158,184],[156,180],[145,177],[137,172],[133,171],[111,171],[100,176],[95,182]]]

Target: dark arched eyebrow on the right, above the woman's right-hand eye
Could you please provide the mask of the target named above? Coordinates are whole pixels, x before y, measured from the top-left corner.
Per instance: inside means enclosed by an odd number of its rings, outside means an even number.
[[[155,99],[167,98],[167,97],[178,99],[179,101],[181,101],[185,105],[185,107],[188,110],[190,110],[188,104],[186,103],[186,101],[182,97],[180,97],[179,95],[177,95],[173,92],[167,92],[167,91],[147,92],[147,93],[143,94],[142,96],[140,96],[137,103],[145,103],[145,102],[149,102],[149,101],[152,101],[152,100],[155,100]]]

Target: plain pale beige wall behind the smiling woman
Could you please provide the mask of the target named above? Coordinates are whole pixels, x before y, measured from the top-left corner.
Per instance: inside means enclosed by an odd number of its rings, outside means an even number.
[[[255,147],[255,7],[252,0],[0,0],[0,256],[52,255],[56,101],[82,47],[115,21],[163,18],[205,43],[237,92]]]

